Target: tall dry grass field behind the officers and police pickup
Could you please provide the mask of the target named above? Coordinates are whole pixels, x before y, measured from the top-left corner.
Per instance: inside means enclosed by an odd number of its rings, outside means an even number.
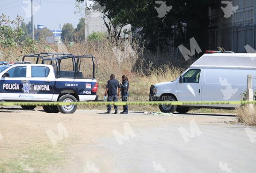
[[[191,65],[194,60],[185,61],[179,54],[172,54],[171,50],[159,50],[154,53],[145,50],[141,43],[132,40],[120,40],[111,42],[102,40],[100,42],[74,42],[69,44],[47,44],[38,42],[33,47],[1,48],[0,61],[20,61],[22,56],[36,52],[59,52],[74,55],[92,54],[98,59],[99,82],[97,95],[100,100],[104,98],[104,89],[111,74],[116,75],[116,79],[121,80],[122,75],[127,75],[130,82],[129,101],[148,101],[149,88],[151,84],[172,81]],[[175,57],[173,57],[175,56]],[[31,60],[32,62],[34,60]],[[71,70],[71,62],[65,61],[63,69]],[[92,62],[82,61],[81,71],[86,77],[92,77]],[[93,106],[80,107],[86,109],[96,109]],[[97,109],[105,109],[104,106],[97,106]],[[131,110],[159,111],[158,106],[131,106]],[[220,112],[234,113],[232,110],[192,110],[192,112]]]

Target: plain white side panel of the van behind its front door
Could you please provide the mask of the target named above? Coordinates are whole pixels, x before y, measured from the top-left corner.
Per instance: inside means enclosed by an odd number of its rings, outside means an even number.
[[[239,101],[247,88],[247,75],[256,76],[256,70],[205,68],[202,101]],[[253,88],[256,88],[255,80],[253,80]],[[237,107],[238,105],[216,106]]]

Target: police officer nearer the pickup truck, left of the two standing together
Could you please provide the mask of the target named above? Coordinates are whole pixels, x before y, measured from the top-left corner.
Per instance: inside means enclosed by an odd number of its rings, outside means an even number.
[[[118,90],[118,93],[117,93]],[[107,101],[117,101],[117,97],[120,96],[120,84],[115,79],[115,75],[110,75],[110,80],[107,82],[105,94],[107,96]],[[107,106],[106,114],[111,114],[111,105]],[[114,105],[115,114],[118,113],[118,106]]]

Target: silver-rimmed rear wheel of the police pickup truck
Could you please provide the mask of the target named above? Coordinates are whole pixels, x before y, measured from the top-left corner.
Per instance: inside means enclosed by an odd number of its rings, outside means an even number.
[[[72,103],[77,102],[76,98],[70,94],[63,95],[59,98],[59,102]],[[73,114],[76,111],[77,105],[61,105],[58,106],[59,112],[63,114]]]

